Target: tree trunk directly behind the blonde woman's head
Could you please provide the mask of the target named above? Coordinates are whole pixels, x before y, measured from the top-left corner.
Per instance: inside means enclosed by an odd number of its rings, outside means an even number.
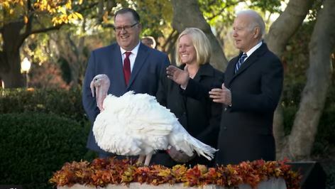
[[[226,70],[228,63],[226,56],[224,55],[221,45],[212,33],[211,27],[205,21],[204,16],[202,16],[197,1],[172,0],[171,2],[173,9],[172,27],[175,28],[178,33],[181,33],[187,27],[196,27],[204,31],[209,42],[212,44],[211,64],[216,69],[221,71]],[[187,9],[185,9],[185,7],[187,7]]]

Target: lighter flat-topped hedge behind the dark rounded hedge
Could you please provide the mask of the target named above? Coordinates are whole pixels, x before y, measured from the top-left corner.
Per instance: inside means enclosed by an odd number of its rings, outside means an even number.
[[[82,107],[80,88],[71,90],[24,89],[0,90],[0,114],[18,112],[53,113],[62,117],[87,121]]]

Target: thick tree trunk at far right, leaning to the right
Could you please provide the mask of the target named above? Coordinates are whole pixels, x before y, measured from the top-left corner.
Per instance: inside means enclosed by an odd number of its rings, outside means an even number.
[[[324,8],[317,15],[309,43],[307,84],[281,157],[303,160],[308,159],[312,151],[331,78],[331,52],[335,46],[334,6],[334,0],[324,1]]]

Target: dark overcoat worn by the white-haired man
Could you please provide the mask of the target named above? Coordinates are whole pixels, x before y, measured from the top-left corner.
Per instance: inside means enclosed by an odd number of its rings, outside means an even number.
[[[273,113],[282,92],[282,64],[263,43],[235,74],[241,55],[229,61],[225,72],[224,84],[231,90],[232,106],[222,112],[218,164],[275,160]]]

